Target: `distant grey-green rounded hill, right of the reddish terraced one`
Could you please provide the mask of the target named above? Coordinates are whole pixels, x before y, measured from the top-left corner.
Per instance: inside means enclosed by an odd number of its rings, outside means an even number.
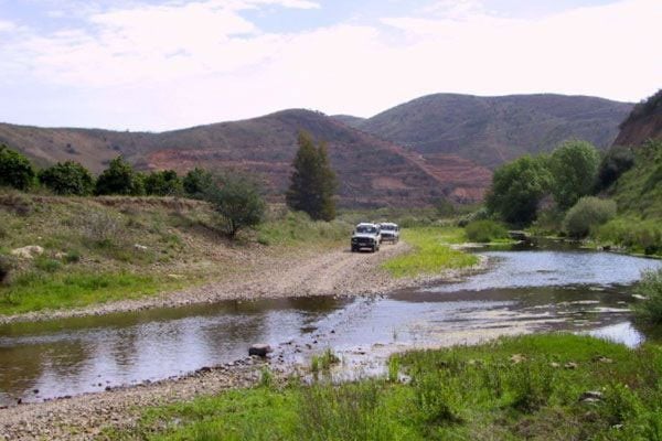
[[[611,146],[632,105],[563,95],[478,97],[437,94],[394,107],[357,126],[424,155],[452,154],[495,168],[568,138]]]

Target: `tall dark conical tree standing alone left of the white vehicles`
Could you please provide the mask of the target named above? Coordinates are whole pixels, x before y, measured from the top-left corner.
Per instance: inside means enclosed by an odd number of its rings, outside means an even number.
[[[335,173],[329,162],[327,144],[314,146],[311,136],[299,132],[299,150],[295,157],[290,186],[286,193],[287,205],[306,212],[318,220],[335,217]]]

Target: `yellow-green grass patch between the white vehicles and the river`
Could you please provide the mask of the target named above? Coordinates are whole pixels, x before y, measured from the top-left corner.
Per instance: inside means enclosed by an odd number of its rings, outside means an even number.
[[[452,249],[451,244],[466,241],[465,230],[453,227],[415,227],[404,229],[402,239],[414,251],[384,262],[392,276],[397,278],[435,275],[446,269],[466,268],[478,262],[476,256]]]

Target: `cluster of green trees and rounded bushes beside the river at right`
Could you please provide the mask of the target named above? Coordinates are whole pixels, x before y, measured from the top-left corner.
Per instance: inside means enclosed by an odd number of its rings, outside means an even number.
[[[589,142],[566,141],[551,154],[524,155],[499,168],[485,206],[492,216],[519,227],[552,213],[563,217],[563,228],[570,236],[585,237],[591,226],[616,215],[612,201],[595,196],[633,164],[628,148],[612,148],[600,155]]]

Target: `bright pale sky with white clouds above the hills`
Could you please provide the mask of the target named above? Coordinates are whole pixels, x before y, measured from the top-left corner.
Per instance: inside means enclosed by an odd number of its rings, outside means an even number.
[[[0,121],[162,131],[434,93],[639,101],[662,0],[0,0]]]

